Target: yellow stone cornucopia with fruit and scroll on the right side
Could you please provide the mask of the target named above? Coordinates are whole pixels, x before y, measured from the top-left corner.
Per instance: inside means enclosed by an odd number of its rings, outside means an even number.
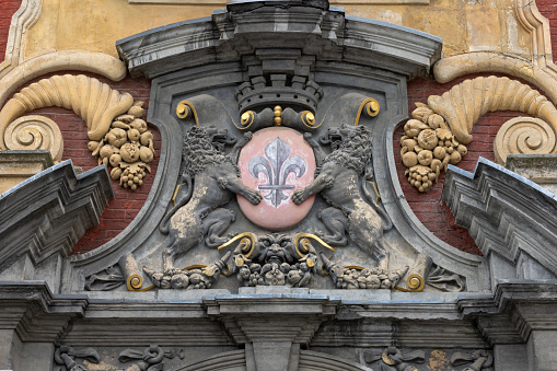
[[[556,151],[557,109],[539,92],[508,78],[476,78],[453,86],[428,104],[416,103],[401,138],[406,176],[419,192],[431,189],[440,170],[457,164],[472,141],[472,128],[487,112],[518,111],[539,119],[506,123],[497,134],[495,152],[499,163],[508,153]]]

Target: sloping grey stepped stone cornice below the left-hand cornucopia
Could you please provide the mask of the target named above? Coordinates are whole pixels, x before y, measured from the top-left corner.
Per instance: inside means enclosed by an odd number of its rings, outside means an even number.
[[[96,225],[114,197],[104,166],[76,175],[71,160],[54,165],[0,196],[0,260],[24,254],[34,264],[59,252],[68,256],[86,229]]]

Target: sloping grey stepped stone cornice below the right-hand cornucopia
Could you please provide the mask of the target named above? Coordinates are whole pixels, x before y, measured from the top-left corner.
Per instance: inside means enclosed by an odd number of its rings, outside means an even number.
[[[554,194],[480,158],[474,174],[449,167],[442,199],[485,256],[496,253],[513,266],[501,278],[557,275]]]

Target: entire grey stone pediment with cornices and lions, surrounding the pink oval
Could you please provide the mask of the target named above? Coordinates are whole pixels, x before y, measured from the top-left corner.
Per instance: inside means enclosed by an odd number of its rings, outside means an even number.
[[[443,198],[474,256],[427,231],[398,184],[406,81],[428,73],[441,39],[321,0],[233,1],[117,47],[152,79],[151,193],[123,233],[74,256],[67,243],[112,196],[105,170],[76,176],[65,162],[1,196],[0,369],[555,370],[555,196],[484,160],[475,175],[450,170]],[[304,186],[312,210],[269,232],[241,212],[234,193],[267,200],[235,166],[248,132],[278,124],[305,132],[321,169]],[[353,132],[364,159],[328,161]],[[196,146],[222,161],[190,156]],[[279,207],[292,199],[280,192]],[[185,290],[161,289],[173,286]]]

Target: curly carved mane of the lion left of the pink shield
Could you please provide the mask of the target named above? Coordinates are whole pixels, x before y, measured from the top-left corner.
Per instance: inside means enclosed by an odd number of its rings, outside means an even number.
[[[219,152],[211,143],[207,130],[194,126],[184,134],[183,146],[184,171],[192,177],[202,172],[209,165],[229,163],[234,167],[236,176],[240,176],[240,169],[225,154]]]

